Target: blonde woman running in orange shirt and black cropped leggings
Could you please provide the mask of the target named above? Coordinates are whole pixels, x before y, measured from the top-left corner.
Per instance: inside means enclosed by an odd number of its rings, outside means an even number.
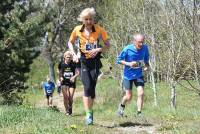
[[[82,25],[76,26],[69,38],[68,47],[74,56],[74,60],[81,62],[81,80],[84,85],[83,103],[86,111],[86,124],[93,124],[93,103],[95,87],[99,70],[101,68],[101,52],[103,47],[109,48],[110,43],[106,31],[94,23],[96,12],[94,8],[84,9],[78,20]],[[103,40],[104,46],[100,44]],[[80,56],[75,54],[74,44],[79,47]]]

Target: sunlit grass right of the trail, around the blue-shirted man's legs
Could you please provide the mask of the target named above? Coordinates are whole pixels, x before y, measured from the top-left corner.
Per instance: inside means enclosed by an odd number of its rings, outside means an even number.
[[[177,108],[170,107],[170,89],[166,83],[157,84],[158,106],[154,106],[151,84],[145,86],[145,104],[143,113],[148,122],[160,124],[158,132],[166,133],[200,133],[200,96],[192,91],[177,86]],[[137,122],[136,89],[133,88],[133,100],[126,106],[129,118],[116,119],[116,110],[121,100],[122,91],[116,80],[107,78],[98,83],[96,115],[102,121]]]

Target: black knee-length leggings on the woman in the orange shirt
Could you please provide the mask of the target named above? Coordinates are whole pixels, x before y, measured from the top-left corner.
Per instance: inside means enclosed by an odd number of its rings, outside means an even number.
[[[99,74],[99,62],[87,60],[81,62],[81,80],[84,85],[84,96],[95,98],[95,88]]]

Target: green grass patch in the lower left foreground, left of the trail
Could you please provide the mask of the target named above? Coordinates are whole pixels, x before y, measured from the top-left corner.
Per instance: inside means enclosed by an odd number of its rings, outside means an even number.
[[[81,133],[83,125],[76,118],[67,118],[63,113],[51,109],[29,106],[4,106],[0,109],[0,133]],[[71,126],[71,125],[74,125]]]

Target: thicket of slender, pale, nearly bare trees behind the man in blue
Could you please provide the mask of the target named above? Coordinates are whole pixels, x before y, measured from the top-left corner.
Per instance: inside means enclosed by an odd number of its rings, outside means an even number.
[[[156,81],[196,79],[199,59],[198,1],[109,0],[98,8],[108,30],[112,65],[133,33],[144,33],[149,44]],[[119,75],[121,68],[114,71]],[[118,77],[118,76],[115,76]]]

